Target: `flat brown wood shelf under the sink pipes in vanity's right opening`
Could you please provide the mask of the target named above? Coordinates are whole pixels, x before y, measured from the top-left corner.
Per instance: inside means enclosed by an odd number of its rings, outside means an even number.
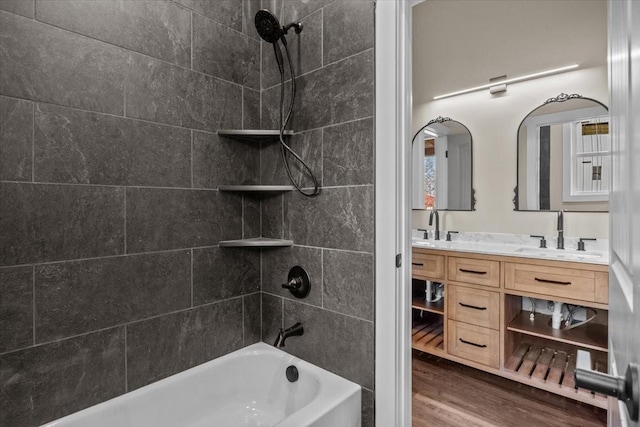
[[[577,345],[591,350],[607,351],[607,325],[593,321],[574,329],[553,329],[551,316],[536,313],[535,319],[529,319],[530,312],[520,312],[507,326],[507,330],[526,335],[546,338],[567,344]]]

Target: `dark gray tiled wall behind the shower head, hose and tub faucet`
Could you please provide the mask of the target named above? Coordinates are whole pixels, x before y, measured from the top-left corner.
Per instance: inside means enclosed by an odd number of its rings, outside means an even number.
[[[284,350],[363,387],[363,425],[372,426],[374,393],[374,2],[263,0],[281,23],[301,20],[287,38],[297,75],[290,128],[294,150],[322,192],[262,202],[262,232],[294,241],[262,253],[262,338],[301,322],[302,337]],[[284,55],[284,52],[283,52]],[[288,73],[287,73],[288,78]],[[278,128],[279,73],[262,48],[262,127]],[[288,99],[288,98],[287,98]],[[286,102],[288,104],[288,101]],[[310,181],[291,161],[305,186]],[[261,182],[287,184],[277,144],[262,148]],[[301,265],[312,281],[298,300],[280,287]]]

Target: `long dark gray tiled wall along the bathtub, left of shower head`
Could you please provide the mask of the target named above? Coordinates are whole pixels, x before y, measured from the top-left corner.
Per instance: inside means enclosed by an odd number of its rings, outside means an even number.
[[[0,425],[259,341],[259,0],[0,0]]]

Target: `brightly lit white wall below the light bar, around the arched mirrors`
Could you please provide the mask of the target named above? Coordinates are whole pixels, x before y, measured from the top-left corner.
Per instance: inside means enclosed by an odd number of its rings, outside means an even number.
[[[555,212],[515,212],[512,199],[518,126],[531,110],[561,92],[579,93],[608,104],[606,67],[517,83],[502,96],[482,91],[414,106],[414,129],[446,115],[464,123],[473,138],[476,210],[443,213],[444,229],[555,235]],[[413,211],[412,218],[414,228],[428,225],[426,211]],[[565,214],[565,236],[608,238],[608,227],[608,213]]]

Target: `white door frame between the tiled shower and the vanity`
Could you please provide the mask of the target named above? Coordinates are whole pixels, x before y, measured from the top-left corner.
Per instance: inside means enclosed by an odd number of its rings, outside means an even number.
[[[410,427],[411,2],[377,0],[375,28],[375,416]]]

